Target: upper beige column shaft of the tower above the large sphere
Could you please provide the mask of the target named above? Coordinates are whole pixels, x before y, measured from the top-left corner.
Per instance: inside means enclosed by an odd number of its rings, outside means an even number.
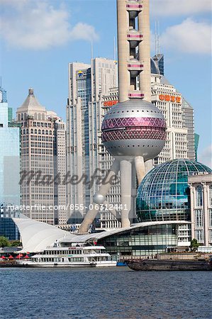
[[[119,101],[150,102],[149,0],[117,0],[117,20]]]

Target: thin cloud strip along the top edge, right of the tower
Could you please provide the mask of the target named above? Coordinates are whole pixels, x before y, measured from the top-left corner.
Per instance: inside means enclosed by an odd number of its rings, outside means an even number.
[[[211,0],[150,0],[153,16],[191,16],[212,9]]]

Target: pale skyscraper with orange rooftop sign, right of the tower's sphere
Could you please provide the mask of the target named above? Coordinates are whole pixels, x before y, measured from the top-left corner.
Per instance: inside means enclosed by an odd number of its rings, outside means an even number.
[[[151,73],[152,103],[162,111],[167,122],[167,140],[154,164],[175,158],[195,159],[194,110],[164,77],[163,55],[152,57]]]

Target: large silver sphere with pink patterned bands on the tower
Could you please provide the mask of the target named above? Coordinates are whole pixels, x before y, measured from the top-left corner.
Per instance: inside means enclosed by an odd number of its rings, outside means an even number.
[[[166,122],[152,103],[130,99],[112,106],[102,123],[102,141],[113,156],[153,159],[166,140]]]

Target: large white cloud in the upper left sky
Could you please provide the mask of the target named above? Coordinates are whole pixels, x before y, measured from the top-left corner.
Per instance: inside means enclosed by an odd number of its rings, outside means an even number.
[[[97,40],[93,26],[71,26],[64,6],[55,9],[48,1],[0,0],[1,37],[10,47],[32,50],[64,45],[72,40]]]

